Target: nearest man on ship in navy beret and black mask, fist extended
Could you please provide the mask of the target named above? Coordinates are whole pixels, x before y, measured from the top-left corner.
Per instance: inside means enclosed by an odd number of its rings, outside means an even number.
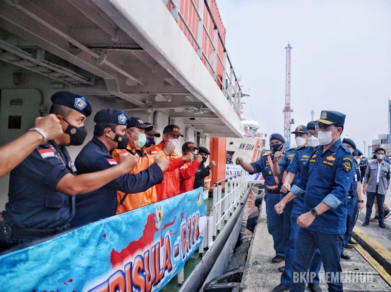
[[[17,244],[67,229],[75,214],[75,195],[98,189],[134,166],[126,157],[111,170],[76,176],[65,146],[84,142],[91,107],[86,98],[69,91],[54,93],[51,101],[50,113],[60,120],[63,135],[43,141],[11,171],[5,209]]]

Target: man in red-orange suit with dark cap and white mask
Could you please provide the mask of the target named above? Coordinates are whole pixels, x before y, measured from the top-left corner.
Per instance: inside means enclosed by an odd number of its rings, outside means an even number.
[[[180,129],[176,125],[168,125],[163,129],[163,140],[157,144],[152,145],[150,148],[150,154],[156,155],[160,150],[163,150],[166,154],[166,158],[170,161],[168,169],[163,174],[163,181],[156,185],[157,201],[165,200],[180,194],[179,191],[179,167],[186,161],[191,161],[194,155],[188,153],[185,156],[178,157],[175,152],[166,152],[165,147],[171,146],[175,149],[178,144]]]

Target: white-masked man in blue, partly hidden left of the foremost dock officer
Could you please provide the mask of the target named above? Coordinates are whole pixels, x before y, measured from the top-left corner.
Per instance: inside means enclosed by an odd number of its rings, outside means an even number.
[[[311,138],[311,144],[314,147],[319,145],[318,142],[318,131],[316,131],[315,126],[318,125],[318,122],[309,122],[306,127],[306,132]],[[296,139],[298,140],[298,139]],[[282,193],[289,192],[291,184],[295,184],[296,181],[300,178],[303,171],[304,164],[308,161],[309,156],[314,151],[314,147],[308,145],[308,140],[306,139],[304,146],[301,146],[297,149],[295,156],[293,157],[292,162],[286,168],[286,176],[283,180],[281,191]],[[297,145],[301,145],[300,140],[296,141]],[[281,283],[276,286],[274,292],[282,292],[289,289],[289,286],[292,283],[292,262],[295,258],[295,247],[297,243],[297,235],[300,226],[297,224],[297,219],[300,215],[304,213],[304,199],[302,197],[297,197],[292,201],[292,210],[290,212],[290,236],[288,243],[285,247],[285,267],[282,270]],[[283,213],[286,212],[286,206]],[[314,258],[312,259],[309,271],[315,272],[315,278],[312,283],[308,283],[308,288],[311,291],[321,292],[322,289],[319,287],[319,271],[322,266],[322,260],[320,257],[319,250],[316,251]]]

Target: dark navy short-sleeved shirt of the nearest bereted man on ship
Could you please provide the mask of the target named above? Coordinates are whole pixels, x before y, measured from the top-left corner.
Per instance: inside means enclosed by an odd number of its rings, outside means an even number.
[[[69,227],[75,197],[56,191],[57,183],[69,173],[76,175],[76,168],[66,148],[54,141],[37,147],[11,171],[5,210],[18,244]]]

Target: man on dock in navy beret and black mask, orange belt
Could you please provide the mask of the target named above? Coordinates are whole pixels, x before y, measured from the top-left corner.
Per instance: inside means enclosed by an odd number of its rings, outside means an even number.
[[[280,201],[282,174],[273,176],[273,159],[274,153],[282,151],[284,148],[285,139],[280,134],[272,134],[269,138],[270,149],[272,155],[262,156],[260,160],[247,163],[243,158],[236,158],[236,164],[239,164],[244,170],[250,174],[262,173],[265,180],[266,191],[264,200],[266,203],[267,215],[267,230],[273,237],[274,250],[276,256],[272,258],[273,263],[281,263],[285,258],[285,244],[283,236],[283,215],[277,214],[274,210],[274,205]]]

